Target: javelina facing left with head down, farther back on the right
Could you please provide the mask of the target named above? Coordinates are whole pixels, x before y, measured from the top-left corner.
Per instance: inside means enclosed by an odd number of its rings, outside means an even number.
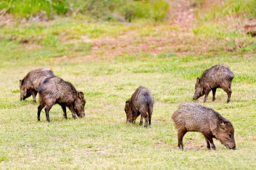
[[[202,74],[201,78],[197,78],[195,83],[195,94],[193,99],[196,100],[199,97],[204,96],[204,102],[206,102],[209,92],[212,90],[212,101],[214,101],[217,88],[222,88],[227,92],[227,103],[230,102],[231,96],[231,82],[234,78],[234,74],[226,65],[214,65],[210,69],[207,69]]]

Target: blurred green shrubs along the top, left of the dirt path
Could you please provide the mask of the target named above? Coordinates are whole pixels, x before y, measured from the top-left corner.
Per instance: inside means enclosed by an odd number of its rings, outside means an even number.
[[[131,21],[135,18],[163,20],[169,3],[164,0],[3,0],[0,10],[29,19],[39,13],[86,14],[101,20]]]

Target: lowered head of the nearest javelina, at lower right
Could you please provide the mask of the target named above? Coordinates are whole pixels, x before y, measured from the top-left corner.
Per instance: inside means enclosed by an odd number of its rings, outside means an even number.
[[[218,133],[216,138],[220,140],[225,147],[229,149],[236,149],[236,143],[234,138],[234,128],[230,122],[221,121],[218,123]]]

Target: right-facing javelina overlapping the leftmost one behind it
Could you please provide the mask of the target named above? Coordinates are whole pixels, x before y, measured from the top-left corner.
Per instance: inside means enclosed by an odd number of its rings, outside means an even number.
[[[79,117],[84,117],[84,94],[77,92],[70,82],[65,82],[59,77],[49,77],[38,88],[38,93],[40,102],[38,106],[38,121],[40,121],[41,110],[45,106],[46,119],[50,122],[49,110],[56,103],[61,105],[65,119],[67,119],[66,106],[70,109],[74,119],[76,119],[75,113]]]

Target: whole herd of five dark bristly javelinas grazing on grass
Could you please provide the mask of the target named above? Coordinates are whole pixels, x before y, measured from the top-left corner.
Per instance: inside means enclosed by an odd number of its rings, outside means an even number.
[[[231,82],[234,74],[226,65],[214,65],[204,71],[200,78],[196,79],[195,94],[193,100],[204,96],[204,102],[212,91],[212,101],[214,101],[217,88],[222,88],[227,92],[227,103],[230,102]],[[44,108],[47,121],[49,111],[53,105],[59,104],[63,110],[63,116],[67,119],[66,107],[72,113],[74,119],[76,115],[84,117],[84,105],[86,100],[84,94],[76,90],[70,83],[60,77],[56,77],[53,71],[47,68],[38,68],[30,71],[24,79],[20,80],[20,100],[25,100],[29,96],[35,97],[39,93],[38,121],[40,113]],[[125,102],[126,122],[135,123],[138,116],[140,125],[145,119],[145,127],[151,125],[154,99],[148,88],[140,86]],[[183,103],[172,115],[172,120],[177,129],[178,146],[183,150],[183,136],[186,132],[194,131],[203,133],[207,148],[215,150],[212,138],[218,139],[225,147],[236,149],[234,139],[234,128],[231,122],[221,116],[211,108],[206,108],[195,103]]]

